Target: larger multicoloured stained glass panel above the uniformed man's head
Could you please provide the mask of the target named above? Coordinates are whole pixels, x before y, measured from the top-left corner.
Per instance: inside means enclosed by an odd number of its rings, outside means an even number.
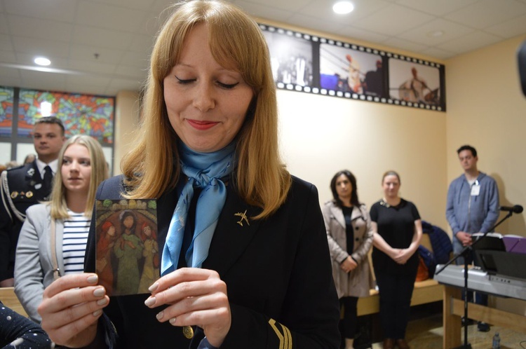
[[[43,116],[46,104],[50,107],[50,115],[60,118],[64,123],[66,137],[90,135],[102,144],[113,143],[113,97],[22,89],[18,103],[20,137],[31,137],[34,121]]]

